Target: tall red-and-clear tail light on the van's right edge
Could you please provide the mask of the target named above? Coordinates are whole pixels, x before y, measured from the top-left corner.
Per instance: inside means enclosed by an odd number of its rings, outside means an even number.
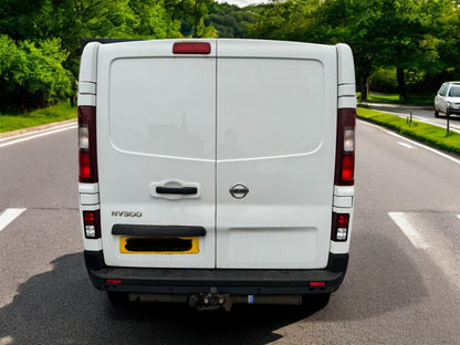
[[[355,127],[356,109],[338,109],[335,158],[336,186],[353,186],[355,184]]]

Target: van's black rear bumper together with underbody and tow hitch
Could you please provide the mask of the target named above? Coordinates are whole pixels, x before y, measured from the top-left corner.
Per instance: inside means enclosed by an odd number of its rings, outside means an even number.
[[[322,270],[113,268],[105,265],[102,251],[85,251],[84,258],[93,285],[114,303],[187,303],[198,310],[227,311],[233,304],[323,307],[342,284],[348,264],[348,254],[332,253]]]

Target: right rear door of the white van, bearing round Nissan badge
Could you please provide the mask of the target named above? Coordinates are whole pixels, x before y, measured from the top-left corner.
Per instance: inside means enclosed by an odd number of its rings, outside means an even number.
[[[336,48],[266,41],[218,44],[217,266],[325,268],[334,184]],[[244,189],[249,191],[241,198]]]

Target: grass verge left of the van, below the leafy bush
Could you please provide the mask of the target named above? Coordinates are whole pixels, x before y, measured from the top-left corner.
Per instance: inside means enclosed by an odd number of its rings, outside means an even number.
[[[76,107],[71,107],[69,104],[53,105],[19,115],[0,114],[0,133],[41,126],[71,118],[76,118]]]

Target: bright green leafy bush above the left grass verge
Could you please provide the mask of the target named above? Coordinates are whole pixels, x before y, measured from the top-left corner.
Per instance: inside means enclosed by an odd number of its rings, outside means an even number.
[[[74,93],[74,79],[62,66],[67,53],[59,39],[14,42],[0,35],[0,112],[56,104]]]

